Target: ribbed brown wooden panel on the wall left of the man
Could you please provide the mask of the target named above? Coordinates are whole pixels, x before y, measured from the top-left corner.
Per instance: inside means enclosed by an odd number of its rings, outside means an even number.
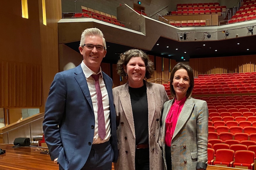
[[[0,106],[40,107],[42,104],[42,66],[0,61]]]

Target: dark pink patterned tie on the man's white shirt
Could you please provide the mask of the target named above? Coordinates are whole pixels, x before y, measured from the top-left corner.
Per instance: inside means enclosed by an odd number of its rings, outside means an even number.
[[[102,95],[99,87],[99,76],[100,74],[91,75],[91,77],[93,77],[95,80],[95,88],[96,88],[97,101],[98,101],[98,133],[99,133],[99,137],[103,140],[106,135],[106,129],[105,129],[104,110],[103,110],[103,104],[102,104]]]

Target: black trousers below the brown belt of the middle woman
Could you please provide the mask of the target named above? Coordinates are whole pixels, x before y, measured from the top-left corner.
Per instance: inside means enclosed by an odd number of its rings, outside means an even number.
[[[135,170],[149,170],[149,148],[135,150]]]

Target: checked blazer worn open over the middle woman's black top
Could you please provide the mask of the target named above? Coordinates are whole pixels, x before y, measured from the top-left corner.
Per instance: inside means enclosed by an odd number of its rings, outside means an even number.
[[[169,98],[163,85],[148,82],[145,83],[148,98],[150,169],[161,170],[163,165],[161,113],[163,104],[165,101],[168,101]],[[135,170],[135,129],[128,82],[125,85],[113,88],[113,99],[117,116],[117,138],[119,149],[118,161],[114,164],[115,170]]]

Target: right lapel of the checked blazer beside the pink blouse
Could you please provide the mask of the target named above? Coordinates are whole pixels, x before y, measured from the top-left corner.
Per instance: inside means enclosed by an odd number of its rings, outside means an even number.
[[[181,113],[178,117],[178,121],[177,121],[175,130],[173,132],[173,138],[178,134],[178,132],[182,129],[184,124],[189,119],[189,116],[192,114],[194,106],[195,106],[195,103],[192,101],[192,98],[189,98],[185,101],[184,106],[181,110]]]

